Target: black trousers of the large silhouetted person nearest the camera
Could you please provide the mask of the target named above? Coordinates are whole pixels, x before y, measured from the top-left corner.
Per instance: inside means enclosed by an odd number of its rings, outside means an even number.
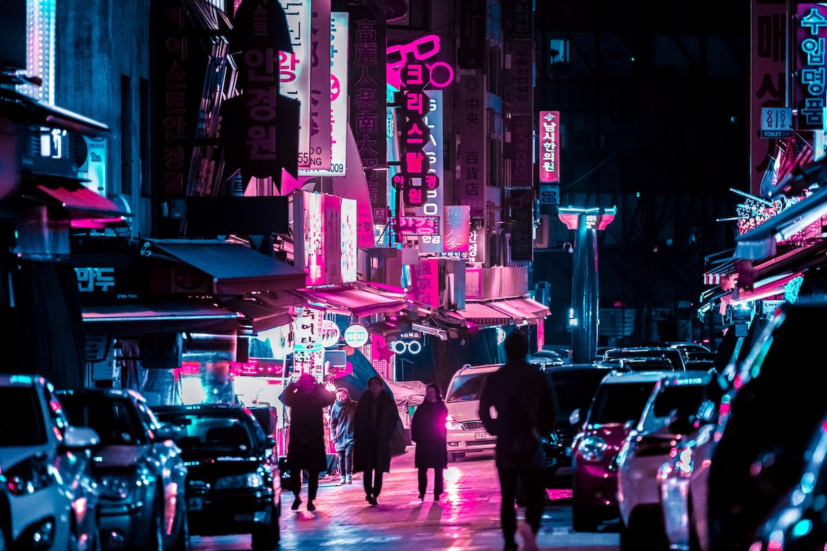
[[[525,521],[534,534],[540,530],[543,518],[545,484],[542,468],[498,468],[500,474],[500,524],[503,527],[505,544],[514,544],[514,532],[517,531],[517,483],[523,482],[525,489]]]

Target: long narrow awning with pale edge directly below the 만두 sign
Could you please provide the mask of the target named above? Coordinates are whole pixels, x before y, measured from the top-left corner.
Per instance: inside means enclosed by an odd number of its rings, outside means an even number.
[[[83,317],[90,335],[233,333],[239,321],[236,312],[203,302],[84,306]]]

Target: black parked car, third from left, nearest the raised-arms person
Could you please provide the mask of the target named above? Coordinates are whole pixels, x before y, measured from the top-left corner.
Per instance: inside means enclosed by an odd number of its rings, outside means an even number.
[[[186,496],[193,534],[252,534],[253,549],[279,544],[281,477],[275,439],[243,406],[155,406],[179,428],[187,461]]]

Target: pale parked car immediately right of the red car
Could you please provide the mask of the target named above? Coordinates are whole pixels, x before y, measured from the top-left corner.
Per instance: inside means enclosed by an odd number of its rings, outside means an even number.
[[[653,527],[661,522],[657,473],[672,447],[695,431],[694,414],[712,373],[668,373],[654,387],[638,424],[624,440],[617,460],[620,549],[660,549]]]

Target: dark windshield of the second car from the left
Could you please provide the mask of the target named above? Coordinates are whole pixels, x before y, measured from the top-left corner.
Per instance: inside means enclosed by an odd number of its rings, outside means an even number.
[[[141,420],[124,398],[68,392],[60,395],[60,403],[70,424],[94,429],[104,446],[147,444]]]

